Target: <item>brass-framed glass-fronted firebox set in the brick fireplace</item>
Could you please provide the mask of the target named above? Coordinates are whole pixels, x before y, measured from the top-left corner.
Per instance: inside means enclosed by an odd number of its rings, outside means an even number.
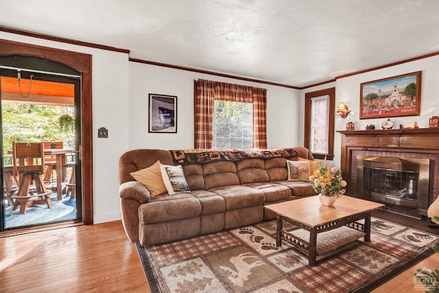
[[[357,155],[357,194],[388,205],[428,209],[429,159]]]

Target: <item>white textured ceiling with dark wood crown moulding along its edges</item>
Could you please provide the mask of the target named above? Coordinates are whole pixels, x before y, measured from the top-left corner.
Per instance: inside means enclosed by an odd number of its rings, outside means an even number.
[[[438,0],[0,0],[0,26],[308,86],[439,51]]]

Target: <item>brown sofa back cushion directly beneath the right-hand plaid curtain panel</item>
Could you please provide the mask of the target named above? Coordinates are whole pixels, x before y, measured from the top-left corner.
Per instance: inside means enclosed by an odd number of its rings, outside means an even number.
[[[237,161],[237,174],[241,184],[268,182],[270,177],[265,170],[263,159],[246,159]]]

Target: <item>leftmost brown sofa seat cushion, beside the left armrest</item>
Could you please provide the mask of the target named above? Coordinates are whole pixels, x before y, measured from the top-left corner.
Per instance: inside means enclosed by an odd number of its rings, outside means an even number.
[[[141,224],[193,218],[199,215],[201,215],[200,201],[188,193],[156,196],[139,207]]]

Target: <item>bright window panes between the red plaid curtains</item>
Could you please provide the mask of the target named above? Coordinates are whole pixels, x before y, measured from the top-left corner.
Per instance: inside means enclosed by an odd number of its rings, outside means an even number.
[[[213,148],[253,148],[252,103],[215,99]]]

